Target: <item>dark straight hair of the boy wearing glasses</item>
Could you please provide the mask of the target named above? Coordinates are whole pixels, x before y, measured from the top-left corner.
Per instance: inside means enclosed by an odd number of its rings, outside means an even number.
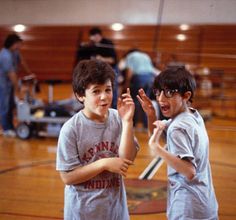
[[[185,67],[170,67],[155,78],[153,87],[158,90],[177,89],[182,96],[185,92],[190,91],[191,97],[188,101],[193,102],[196,81]]]

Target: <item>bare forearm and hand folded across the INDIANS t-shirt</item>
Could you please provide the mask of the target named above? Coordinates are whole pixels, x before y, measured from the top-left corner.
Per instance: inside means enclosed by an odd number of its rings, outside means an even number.
[[[128,167],[131,164],[133,164],[132,161],[118,157],[103,158],[71,171],[60,171],[60,176],[62,181],[67,185],[80,184],[92,179],[105,170],[118,173],[125,177]]]

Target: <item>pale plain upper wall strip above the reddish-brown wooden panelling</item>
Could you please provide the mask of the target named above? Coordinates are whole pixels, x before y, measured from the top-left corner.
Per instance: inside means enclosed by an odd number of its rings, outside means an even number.
[[[233,24],[235,9],[235,0],[1,0],[0,25]]]

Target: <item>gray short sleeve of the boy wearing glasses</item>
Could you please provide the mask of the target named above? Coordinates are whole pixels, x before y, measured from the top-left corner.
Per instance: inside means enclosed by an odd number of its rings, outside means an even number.
[[[174,129],[170,133],[168,140],[168,147],[171,153],[180,157],[181,159],[188,159],[195,167],[195,157],[192,149],[192,140],[185,129]]]

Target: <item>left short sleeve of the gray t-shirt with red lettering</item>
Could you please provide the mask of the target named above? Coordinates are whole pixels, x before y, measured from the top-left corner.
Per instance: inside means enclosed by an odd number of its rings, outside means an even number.
[[[79,159],[76,132],[66,123],[62,127],[58,139],[56,169],[70,171],[81,166]]]

